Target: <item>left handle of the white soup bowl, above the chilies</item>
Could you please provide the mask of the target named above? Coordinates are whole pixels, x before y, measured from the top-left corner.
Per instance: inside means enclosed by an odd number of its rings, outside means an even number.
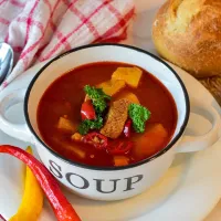
[[[6,134],[8,134],[9,136],[12,136],[17,139],[32,143],[33,136],[31,131],[29,130],[25,123],[13,124],[9,122],[6,117],[7,109],[24,101],[25,92],[27,90],[24,88],[15,90],[1,98],[0,101],[0,129],[4,131]]]

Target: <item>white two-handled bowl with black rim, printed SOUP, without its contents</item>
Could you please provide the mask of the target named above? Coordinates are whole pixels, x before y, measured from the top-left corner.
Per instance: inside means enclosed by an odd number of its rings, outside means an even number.
[[[45,90],[67,71],[102,61],[123,62],[143,67],[168,88],[177,105],[178,122],[170,143],[156,155],[134,165],[104,168],[71,161],[51,149],[43,141],[38,128],[36,110]],[[7,109],[23,101],[27,124],[11,124],[4,117]],[[96,44],[81,46],[53,59],[36,73],[28,90],[7,94],[0,103],[0,128],[18,139],[34,144],[46,168],[75,193],[95,200],[120,200],[141,193],[152,186],[170,167],[177,152],[204,149],[218,140],[220,116],[217,110],[197,101],[193,101],[191,110],[197,110],[211,122],[212,128],[206,135],[183,135],[190,115],[189,97],[182,81],[167,63],[133,46]]]

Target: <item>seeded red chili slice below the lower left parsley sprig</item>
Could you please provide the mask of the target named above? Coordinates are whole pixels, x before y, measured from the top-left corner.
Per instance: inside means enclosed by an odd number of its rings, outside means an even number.
[[[85,144],[93,145],[96,149],[105,149],[107,146],[107,137],[104,135],[93,131],[83,137]]]

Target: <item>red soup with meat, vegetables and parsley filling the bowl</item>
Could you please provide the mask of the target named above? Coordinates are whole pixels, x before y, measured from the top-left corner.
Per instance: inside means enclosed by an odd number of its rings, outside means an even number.
[[[176,124],[177,108],[168,90],[145,70],[115,62],[65,73],[45,91],[38,108],[45,144],[88,166],[118,167],[146,159],[167,146]]]

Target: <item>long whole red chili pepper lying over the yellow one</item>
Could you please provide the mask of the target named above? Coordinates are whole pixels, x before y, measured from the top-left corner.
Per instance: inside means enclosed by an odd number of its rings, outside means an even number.
[[[10,145],[1,145],[0,152],[17,157],[31,169],[46,194],[59,221],[81,221],[72,204],[62,193],[55,178],[38,159],[23,149]]]

